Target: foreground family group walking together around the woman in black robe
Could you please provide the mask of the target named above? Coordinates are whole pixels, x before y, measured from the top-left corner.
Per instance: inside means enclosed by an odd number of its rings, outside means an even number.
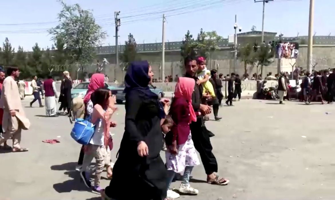
[[[98,121],[89,144],[81,148],[76,168],[92,192],[101,194],[105,200],[158,200],[178,198],[180,194],[196,195],[199,190],[189,183],[193,167],[200,164],[196,151],[205,168],[207,183],[229,183],[216,174],[218,166],[209,139],[214,134],[204,123],[204,116],[211,113],[210,105],[213,105],[215,119],[220,119],[217,117],[218,99],[223,95],[218,93],[220,87],[216,83],[221,80],[217,81],[216,71],[208,72],[202,57],[187,57],[184,63],[186,75],[178,77],[172,101],[159,100],[148,88],[154,76],[148,62],[131,63],[124,80],[125,132],[115,164],[110,158],[113,141],[110,132],[116,126],[112,115],[117,109],[115,96],[104,88],[103,75],[92,75],[82,102],[80,97],[72,100],[73,106],[80,108],[73,109],[76,110],[74,117],[89,117],[92,123]],[[165,151],[165,164],[159,155],[162,150]],[[94,185],[89,181],[90,170],[87,168],[93,157],[96,160]],[[107,177],[113,178],[110,185],[102,189],[99,179],[104,167]],[[170,184],[180,173],[183,175],[179,194],[170,189]],[[125,185],[133,192],[123,192]]]

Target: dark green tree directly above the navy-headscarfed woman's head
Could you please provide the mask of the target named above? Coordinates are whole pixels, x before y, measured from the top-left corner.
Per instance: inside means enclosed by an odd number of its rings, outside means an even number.
[[[122,60],[123,63],[131,63],[140,59],[137,54],[136,46],[137,44],[134,36],[129,33],[128,40],[125,41],[123,54],[120,55],[120,60]]]

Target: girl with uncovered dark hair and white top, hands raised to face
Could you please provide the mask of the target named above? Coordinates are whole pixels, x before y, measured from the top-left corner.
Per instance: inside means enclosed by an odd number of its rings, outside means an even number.
[[[87,167],[90,165],[93,157],[95,158],[95,179],[93,193],[100,194],[100,176],[105,166],[110,166],[110,154],[112,149],[111,134],[109,132],[111,116],[116,110],[115,107],[110,106],[111,93],[108,89],[99,88],[92,94],[94,96],[93,112],[91,114],[91,123],[95,124],[93,136],[87,146],[85,146],[85,155],[83,165],[81,168],[80,176],[85,185],[91,188],[89,181],[90,173]],[[115,97],[114,97],[115,98]]]

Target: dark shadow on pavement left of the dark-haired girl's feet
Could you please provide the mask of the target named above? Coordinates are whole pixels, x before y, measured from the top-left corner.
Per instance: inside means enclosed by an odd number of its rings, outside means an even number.
[[[57,171],[66,171],[65,175],[68,175],[71,180],[64,181],[62,183],[56,183],[53,185],[53,188],[58,193],[71,192],[72,190],[76,191],[87,191],[87,188],[83,183],[81,183],[80,174],[74,171],[77,163],[64,163],[62,165],[53,165],[50,167],[51,170]]]

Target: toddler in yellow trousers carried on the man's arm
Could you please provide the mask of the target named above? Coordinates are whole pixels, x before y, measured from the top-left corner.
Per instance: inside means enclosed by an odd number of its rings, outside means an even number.
[[[198,85],[201,84],[202,87],[204,88],[203,95],[206,95],[208,93],[211,97],[215,97],[213,85],[209,82],[211,75],[210,71],[207,70],[206,68],[206,59],[202,56],[197,57],[197,65],[198,65],[197,77],[199,79],[197,81],[197,84]]]

